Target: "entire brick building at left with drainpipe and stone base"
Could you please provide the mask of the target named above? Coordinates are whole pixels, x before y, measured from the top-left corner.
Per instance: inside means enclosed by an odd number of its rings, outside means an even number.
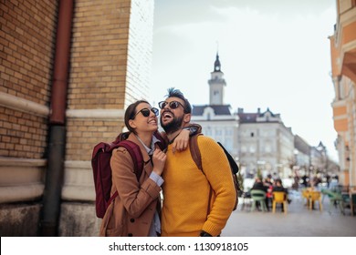
[[[0,234],[97,236],[91,152],[149,95],[154,2],[0,5]]]

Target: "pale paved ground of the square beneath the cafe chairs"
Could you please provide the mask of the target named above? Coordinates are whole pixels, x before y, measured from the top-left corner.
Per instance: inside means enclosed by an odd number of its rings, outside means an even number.
[[[329,199],[323,200],[323,210],[309,210],[298,192],[293,192],[288,214],[253,211],[249,208],[234,211],[222,236],[225,237],[356,237],[356,216],[337,208],[329,213]],[[240,200],[241,201],[241,200]]]

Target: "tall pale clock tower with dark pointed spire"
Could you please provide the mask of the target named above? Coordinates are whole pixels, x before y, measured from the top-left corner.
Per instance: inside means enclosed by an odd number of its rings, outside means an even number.
[[[221,71],[219,54],[216,53],[214,71],[208,80],[210,86],[210,105],[224,105],[224,87],[226,86],[224,73]]]

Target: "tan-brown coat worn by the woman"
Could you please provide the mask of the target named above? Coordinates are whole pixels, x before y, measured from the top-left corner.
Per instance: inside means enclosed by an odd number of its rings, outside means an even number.
[[[131,134],[128,138],[139,145],[144,167],[140,183],[133,172],[133,163],[125,148],[113,150],[110,165],[112,169],[111,195],[116,197],[102,219],[100,236],[145,237],[149,235],[155,211],[161,209],[161,188],[149,178],[152,161],[141,142]],[[160,211],[159,211],[160,213]]]

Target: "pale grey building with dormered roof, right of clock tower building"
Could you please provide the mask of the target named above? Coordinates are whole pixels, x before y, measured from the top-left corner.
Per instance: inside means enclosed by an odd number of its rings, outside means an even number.
[[[246,174],[257,172],[263,177],[291,176],[291,163],[294,159],[294,135],[291,128],[284,126],[280,115],[267,108],[265,112],[246,113],[243,108],[237,111],[239,117],[238,149],[239,160]]]

